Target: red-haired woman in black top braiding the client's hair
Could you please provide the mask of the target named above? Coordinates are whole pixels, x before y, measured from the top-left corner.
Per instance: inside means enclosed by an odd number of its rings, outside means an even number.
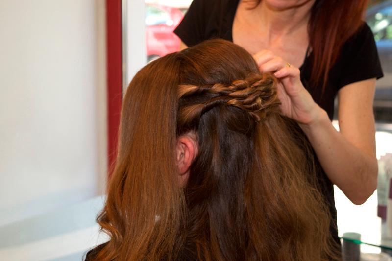
[[[339,241],[333,184],[360,205],[377,184],[372,102],[383,76],[367,0],[194,0],[175,29],[182,48],[223,38],[244,47],[261,72],[280,79],[282,113],[317,155],[320,190]],[[338,96],[340,131],[331,120]]]

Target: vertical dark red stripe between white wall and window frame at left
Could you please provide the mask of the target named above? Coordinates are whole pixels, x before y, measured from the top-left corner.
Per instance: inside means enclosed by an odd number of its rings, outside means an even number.
[[[117,156],[123,99],[123,37],[121,0],[106,0],[107,131],[109,178]]]

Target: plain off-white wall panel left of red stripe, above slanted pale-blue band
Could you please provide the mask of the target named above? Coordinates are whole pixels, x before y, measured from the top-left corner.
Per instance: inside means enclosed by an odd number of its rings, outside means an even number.
[[[104,0],[0,1],[0,225],[100,194]]]

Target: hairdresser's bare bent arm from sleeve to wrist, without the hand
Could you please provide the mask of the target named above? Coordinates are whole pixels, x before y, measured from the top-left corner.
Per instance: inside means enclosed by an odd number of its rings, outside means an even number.
[[[375,82],[356,82],[339,91],[339,132],[316,104],[315,117],[299,124],[329,179],[357,205],[364,203],[377,186],[372,108]]]

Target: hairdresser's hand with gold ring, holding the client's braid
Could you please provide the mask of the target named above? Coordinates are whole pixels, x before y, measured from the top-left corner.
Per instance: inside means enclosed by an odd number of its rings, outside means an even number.
[[[258,64],[260,72],[270,72],[279,79],[278,97],[282,102],[280,107],[284,116],[294,119],[300,124],[311,125],[325,114],[325,111],[303,87],[298,68],[289,65],[269,50],[260,51],[253,58]]]

